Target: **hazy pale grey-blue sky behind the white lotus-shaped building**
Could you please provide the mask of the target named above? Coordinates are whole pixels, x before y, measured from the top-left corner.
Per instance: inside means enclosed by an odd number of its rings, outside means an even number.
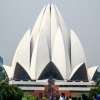
[[[0,55],[10,64],[17,44],[32,28],[50,0],[0,0]],[[88,65],[100,65],[100,0],[51,0],[61,11],[66,28],[79,36]]]

